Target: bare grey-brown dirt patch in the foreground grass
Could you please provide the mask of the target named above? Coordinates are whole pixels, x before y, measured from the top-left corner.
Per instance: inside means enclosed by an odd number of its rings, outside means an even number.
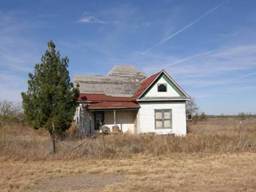
[[[124,176],[122,175],[72,175],[39,181],[34,189],[28,191],[95,190],[122,182],[124,182]]]

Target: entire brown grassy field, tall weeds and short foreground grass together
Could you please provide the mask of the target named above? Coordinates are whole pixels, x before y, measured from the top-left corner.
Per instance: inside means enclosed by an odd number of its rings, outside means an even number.
[[[256,118],[208,118],[186,137],[108,135],[57,142],[0,128],[1,191],[256,191]],[[104,147],[105,142],[105,147]]]

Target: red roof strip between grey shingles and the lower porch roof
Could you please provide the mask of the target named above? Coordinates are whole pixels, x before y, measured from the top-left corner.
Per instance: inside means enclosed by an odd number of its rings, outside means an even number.
[[[106,102],[129,102],[133,100],[132,97],[111,97],[105,94],[80,94],[78,97],[79,101],[106,101]]]

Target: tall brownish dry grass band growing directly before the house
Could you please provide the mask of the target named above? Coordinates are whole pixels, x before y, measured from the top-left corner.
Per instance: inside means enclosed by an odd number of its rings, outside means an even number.
[[[2,160],[47,160],[88,158],[123,158],[170,153],[235,153],[256,151],[256,118],[240,126],[237,118],[209,118],[190,125],[186,137],[171,135],[102,135],[72,151],[82,140],[57,142],[57,155],[51,154],[51,138],[42,130],[29,127],[4,127],[0,130]],[[104,147],[104,142],[106,147]]]

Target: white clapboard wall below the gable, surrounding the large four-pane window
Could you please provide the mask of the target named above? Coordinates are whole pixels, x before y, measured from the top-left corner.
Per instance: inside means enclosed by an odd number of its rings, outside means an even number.
[[[185,102],[139,103],[138,133],[186,134]],[[155,130],[155,109],[172,109],[172,129]]]

